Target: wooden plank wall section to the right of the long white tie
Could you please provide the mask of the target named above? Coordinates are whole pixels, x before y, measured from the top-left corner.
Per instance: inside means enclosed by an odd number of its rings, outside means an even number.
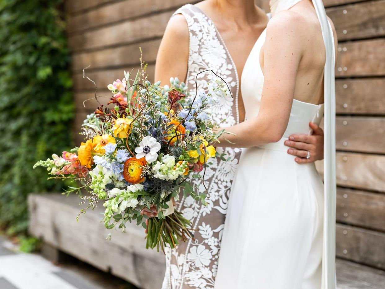
[[[336,255],[385,269],[385,1],[324,3],[339,40]]]

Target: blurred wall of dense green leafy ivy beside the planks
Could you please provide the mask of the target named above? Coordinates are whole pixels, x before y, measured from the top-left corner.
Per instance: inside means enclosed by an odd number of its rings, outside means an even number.
[[[0,227],[25,232],[27,195],[60,190],[32,170],[72,146],[74,102],[62,0],[0,0]],[[56,188],[55,188],[56,187]]]

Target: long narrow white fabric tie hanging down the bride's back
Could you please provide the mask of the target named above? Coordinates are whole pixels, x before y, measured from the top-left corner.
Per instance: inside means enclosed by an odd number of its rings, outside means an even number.
[[[336,288],[335,230],[336,230],[336,139],[335,139],[335,45],[331,25],[321,0],[312,0],[320,20],[326,49],[324,72],[325,136],[324,136],[324,183],[325,204],[323,224],[323,289]]]

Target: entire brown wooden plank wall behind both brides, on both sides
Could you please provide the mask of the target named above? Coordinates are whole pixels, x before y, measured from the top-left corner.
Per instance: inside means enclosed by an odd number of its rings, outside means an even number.
[[[152,79],[157,48],[172,13],[189,0],[67,0],[68,37],[79,128],[107,85],[139,65]],[[256,0],[268,10],[268,0]],[[338,257],[385,269],[385,0],[324,0],[338,38],[336,64]],[[106,98],[107,99],[107,98]],[[105,102],[105,100],[103,100]],[[81,138],[78,137],[77,141]],[[321,164],[317,165],[322,173]]]

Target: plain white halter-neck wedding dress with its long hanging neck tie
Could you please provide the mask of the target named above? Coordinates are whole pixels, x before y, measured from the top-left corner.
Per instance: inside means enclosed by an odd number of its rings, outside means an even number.
[[[273,17],[299,1],[272,1]],[[313,4],[326,47],[325,104],[294,100],[280,141],[242,151],[231,188],[216,289],[335,289],[335,51],[322,2]],[[264,82],[259,52],[265,37],[266,30],[242,74],[246,118],[254,118],[259,110]],[[290,134],[311,134],[308,123],[320,124],[324,110],[325,188],[314,163],[295,163],[283,144]]]

